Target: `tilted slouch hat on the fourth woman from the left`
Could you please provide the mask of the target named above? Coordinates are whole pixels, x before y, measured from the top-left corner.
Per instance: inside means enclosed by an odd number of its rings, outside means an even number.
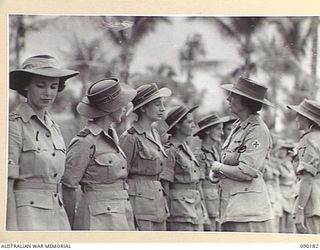
[[[165,132],[170,132],[170,130],[179,122],[181,121],[187,114],[193,112],[196,108],[198,108],[199,106],[194,106],[192,108],[187,108],[184,105],[180,105],[177,107],[172,108],[165,120],[162,122],[162,134],[164,134]]]

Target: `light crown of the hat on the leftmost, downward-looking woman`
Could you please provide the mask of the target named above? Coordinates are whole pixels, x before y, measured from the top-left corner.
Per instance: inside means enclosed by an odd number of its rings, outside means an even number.
[[[49,55],[39,55],[27,58],[22,63],[22,69],[58,68],[58,61]]]

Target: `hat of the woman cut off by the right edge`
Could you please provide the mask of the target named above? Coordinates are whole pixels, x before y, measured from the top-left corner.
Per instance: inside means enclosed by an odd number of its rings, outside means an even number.
[[[299,105],[287,105],[287,108],[320,126],[320,105],[316,101],[304,99]]]

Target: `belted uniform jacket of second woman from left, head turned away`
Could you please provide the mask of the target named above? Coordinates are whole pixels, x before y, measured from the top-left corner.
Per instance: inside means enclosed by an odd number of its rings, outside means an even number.
[[[88,125],[71,140],[63,185],[83,194],[73,228],[76,230],[133,230],[134,220],[126,178],[127,161],[113,129]]]

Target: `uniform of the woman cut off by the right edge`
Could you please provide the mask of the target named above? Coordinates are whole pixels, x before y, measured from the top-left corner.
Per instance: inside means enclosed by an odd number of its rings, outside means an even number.
[[[299,165],[297,172],[302,170],[312,174],[312,190],[305,206],[306,217],[320,216],[320,130],[312,129],[302,135],[298,145]],[[297,190],[299,189],[297,183]],[[297,204],[296,204],[297,205]]]

